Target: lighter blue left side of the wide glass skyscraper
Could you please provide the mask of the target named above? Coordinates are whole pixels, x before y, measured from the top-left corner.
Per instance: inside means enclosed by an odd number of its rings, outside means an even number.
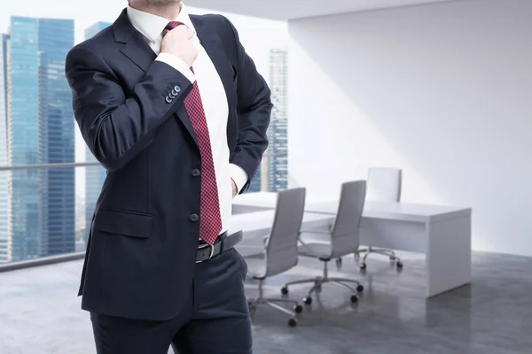
[[[8,45],[9,165],[39,163],[38,34],[38,19],[12,17]],[[39,172],[13,171],[9,192],[12,261],[37,258],[45,253],[39,217]]]

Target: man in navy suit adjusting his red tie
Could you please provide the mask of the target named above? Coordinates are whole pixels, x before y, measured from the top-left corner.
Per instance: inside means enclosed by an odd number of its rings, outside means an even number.
[[[108,172],[80,287],[98,353],[251,353],[241,235],[227,230],[272,104],[236,29],[180,0],[130,0],[69,52],[66,78]]]

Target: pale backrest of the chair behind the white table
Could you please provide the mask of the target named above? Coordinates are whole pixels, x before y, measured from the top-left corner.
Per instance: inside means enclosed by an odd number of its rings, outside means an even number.
[[[368,171],[367,200],[399,202],[403,172],[398,168],[372,167]]]

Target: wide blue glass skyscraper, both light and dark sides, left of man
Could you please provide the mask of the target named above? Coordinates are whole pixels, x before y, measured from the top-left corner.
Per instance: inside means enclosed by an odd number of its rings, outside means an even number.
[[[74,162],[64,67],[74,21],[12,17],[8,45],[8,164]],[[74,251],[74,169],[13,171],[12,260]]]

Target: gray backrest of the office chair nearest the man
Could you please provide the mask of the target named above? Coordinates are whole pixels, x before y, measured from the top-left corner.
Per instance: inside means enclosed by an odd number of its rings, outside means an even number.
[[[266,245],[266,277],[297,265],[297,245],[305,210],[306,189],[286,189],[278,192],[273,227]]]

